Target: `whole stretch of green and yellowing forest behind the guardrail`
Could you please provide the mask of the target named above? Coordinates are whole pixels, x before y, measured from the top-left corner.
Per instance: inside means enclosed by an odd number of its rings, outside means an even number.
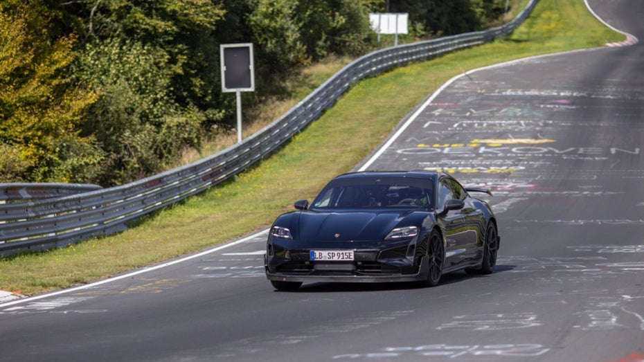
[[[234,127],[220,44],[253,43],[253,103],[305,66],[498,25],[506,0],[0,0],[0,182],[121,185]]]

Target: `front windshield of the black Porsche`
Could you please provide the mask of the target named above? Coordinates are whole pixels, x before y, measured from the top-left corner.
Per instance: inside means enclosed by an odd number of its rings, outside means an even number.
[[[409,182],[337,182],[327,185],[312,203],[312,208],[431,208],[433,192],[424,185]],[[380,180],[377,180],[380,181]],[[403,180],[405,181],[405,180]],[[422,187],[425,186],[425,187]]]

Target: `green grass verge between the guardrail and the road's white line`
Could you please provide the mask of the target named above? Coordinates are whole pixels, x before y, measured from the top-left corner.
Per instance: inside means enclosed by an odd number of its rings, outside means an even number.
[[[587,12],[582,1],[542,0],[507,39],[359,82],[282,150],[233,181],[146,217],[119,235],[0,260],[0,290],[32,295],[70,287],[266,228],[281,212],[292,210],[294,201],[312,199],[329,179],[354,168],[454,75],[623,39]]]

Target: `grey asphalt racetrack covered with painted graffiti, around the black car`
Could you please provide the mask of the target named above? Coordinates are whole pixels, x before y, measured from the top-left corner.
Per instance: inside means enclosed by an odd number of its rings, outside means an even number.
[[[644,39],[643,1],[590,1]],[[0,305],[1,361],[644,360],[644,44],[455,80],[370,169],[495,190],[497,271],[274,291],[265,235]]]

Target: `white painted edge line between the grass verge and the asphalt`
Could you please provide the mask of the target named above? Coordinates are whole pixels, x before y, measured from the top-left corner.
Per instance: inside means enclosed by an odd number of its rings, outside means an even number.
[[[600,21],[602,21],[602,23],[603,23],[603,24],[605,24],[605,25],[606,25],[606,26],[608,26],[609,28],[611,28],[611,29],[613,29],[613,30],[615,30],[615,31],[617,31],[617,32],[619,32],[619,33],[623,33],[623,34],[627,35],[627,33],[624,33],[624,32],[622,32],[622,31],[620,31],[620,30],[617,30],[616,28],[614,28],[614,27],[610,26],[609,24],[605,23],[605,21],[603,21],[600,17],[598,17],[598,16],[596,15],[596,13],[595,13],[595,12],[593,12],[593,10],[590,8],[590,6],[589,6],[589,4],[588,4],[588,0],[584,0],[584,3],[586,3],[586,7],[589,9],[589,11],[590,11],[590,12],[591,12],[595,17],[597,17],[597,19],[599,19]],[[632,36],[632,35],[631,35],[631,36]],[[635,38],[635,37],[634,37],[634,38]],[[635,38],[635,39],[636,39],[636,38]],[[636,40],[637,40],[637,39],[636,39]],[[525,57],[525,58],[522,58],[522,59],[511,60],[511,61],[509,61],[509,62],[503,62],[503,63],[499,63],[499,64],[492,64],[492,65],[490,65],[490,66],[483,66],[483,67],[481,67],[481,68],[477,68],[477,69],[474,69],[474,70],[472,70],[472,71],[467,71],[467,72],[462,73],[462,74],[460,74],[460,75],[456,75],[454,78],[451,78],[451,79],[450,79],[450,80],[448,80],[445,84],[443,84],[443,85],[442,85],[439,89],[437,89],[434,93],[432,93],[432,95],[431,95],[429,98],[427,98],[427,100],[426,100],[425,102],[423,102],[423,104],[421,105],[421,107],[420,107],[420,108],[418,108],[418,109],[417,109],[417,110],[416,110],[416,111],[411,115],[411,117],[409,117],[409,119],[405,121],[405,123],[400,127],[400,129],[398,129],[398,130],[397,130],[397,132],[395,132],[395,134],[393,134],[393,136],[391,136],[391,139],[389,139],[386,143],[384,143],[384,145],[382,145],[382,147],[380,147],[380,149],[379,149],[379,150],[378,150],[378,151],[377,151],[377,152],[376,152],[376,153],[375,153],[375,154],[374,154],[374,155],[373,155],[373,156],[372,156],[372,157],[371,157],[371,158],[370,158],[370,159],[369,159],[369,160],[368,160],[364,165],[362,165],[362,167],[361,167],[361,168],[359,168],[359,171],[364,171],[364,170],[366,170],[370,165],[372,165],[372,164],[375,162],[375,160],[377,160],[377,159],[379,158],[379,156],[382,156],[382,154],[386,151],[386,149],[387,149],[388,147],[390,147],[390,146],[395,142],[395,140],[397,140],[397,138],[398,138],[398,137],[400,137],[400,135],[404,132],[404,130],[405,130],[407,127],[409,127],[409,125],[411,125],[411,123],[413,123],[413,121],[414,121],[416,118],[418,118],[418,116],[420,116],[420,114],[422,113],[422,111],[424,111],[424,109],[425,109],[425,108],[427,108],[427,107],[431,104],[431,102],[433,102],[433,100],[434,100],[436,97],[438,97],[438,95],[439,95],[443,90],[445,90],[445,88],[449,87],[449,85],[451,85],[451,84],[452,84],[452,83],[454,83],[456,80],[458,80],[458,78],[461,78],[461,77],[463,77],[463,76],[466,76],[466,75],[469,75],[469,74],[472,74],[472,73],[476,73],[476,72],[478,72],[478,71],[484,71],[484,70],[488,70],[488,69],[499,68],[499,67],[501,67],[501,66],[508,66],[508,65],[512,65],[512,64],[517,64],[517,63],[519,63],[519,62],[525,62],[525,61],[528,61],[528,60],[533,60],[533,59],[538,59],[538,58],[543,58],[543,57],[551,57],[551,56],[555,56],[555,55],[563,55],[563,54],[570,54],[570,53],[579,53],[579,52],[583,52],[583,51],[595,51],[595,50],[598,50],[598,49],[602,49],[602,48],[594,48],[594,49],[580,49],[580,50],[576,50],[576,51],[565,51],[565,52],[553,53],[553,54],[535,55],[535,56],[533,56],[533,57]],[[73,287],[73,288],[69,288],[69,289],[62,289],[62,290],[60,290],[60,291],[54,291],[54,292],[52,292],[52,293],[46,293],[46,294],[42,294],[42,295],[40,295],[40,296],[33,296],[33,297],[29,297],[29,298],[21,298],[21,299],[18,299],[18,300],[13,300],[13,301],[11,301],[11,302],[2,303],[2,304],[0,304],[0,309],[1,309],[1,308],[4,308],[4,307],[9,307],[10,305],[17,305],[17,304],[19,304],[19,303],[31,302],[31,301],[33,301],[33,300],[39,300],[39,299],[43,299],[43,298],[48,298],[48,297],[58,296],[58,295],[60,295],[60,294],[72,293],[72,292],[74,292],[74,291],[80,291],[80,290],[83,290],[83,289],[89,289],[89,288],[91,288],[91,287],[96,287],[96,286],[101,285],[101,284],[107,284],[107,283],[109,283],[109,282],[114,282],[114,281],[116,281],[116,280],[121,280],[121,279],[130,278],[130,277],[132,277],[132,276],[134,276],[134,275],[139,275],[139,274],[147,273],[148,271],[154,271],[154,270],[157,270],[157,269],[165,268],[166,266],[170,266],[170,265],[174,265],[174,264],[179,264],[179,263],[181,263],[181,262],[185,262],[185,261],[187,261],[187,260],[192,260],[192,259],[195,259],[195,258],[197,258],[197,257],[202,257],[202,256],[204,256],[204,255],[208,255],[208,254],[214,253],[215,251],[220,251],[220,250],[222,250],[222,249],[224,249],[224,248],[229,248],[230,246],[234,246],[234,245],[242,244],[242,243],[244,243],[244,242],[247,242],[247,241],[248,241],[248,240],[250,240],[250,239],[254,239],[255,237],[258,237],[258,236],[260,236],[260,235],[262,235],[262,234],[265,234],[265,233],[268,233],[268,232],[269,232],[269,229],[261,230],[261,231],[259,231],[258,233],[255,233],[255,234],[253,234],[253,235],[249,235],[249,236],[244,237],[244,238],[242,238],[242,239],[239,239],[239,240],[237,240],[237,241],[235,241],[235,242],[229,242],[228,244],[224,244],[224,245],[221,245],[221,246],[217,246],[217,247],[215,247],[215,248],[211,248],[211,249],[208,249],[208,250],[206,250],[206,251],[202,251],[201,253],[197,253],[197,254],[195,254],[195,255],[190,255],[190,256],[188,256],[188,257],[183,257],[183,258],[181,258],[181,259],[173,260],[172,262],[167,262],[167,263],[159,264],[159,265],[156,265],[156,266],[151,266],[151,267],[149,267],[149,268],[144,268],[144,269],[141,269],[141,270],[138,270],[138,271],[134,271],[134,272],[132,272],[132,273],[127,273],[127,274],[123,274],[123,275],[118,275],[117,277],[114,277],[114,278],[108,278],[108,279],[105,279],[105,280],[100,280],[100,281],[98,281],[98,282],[93,282],[93,283],[91,283],[91,284],[81,285],[80,287]]]

